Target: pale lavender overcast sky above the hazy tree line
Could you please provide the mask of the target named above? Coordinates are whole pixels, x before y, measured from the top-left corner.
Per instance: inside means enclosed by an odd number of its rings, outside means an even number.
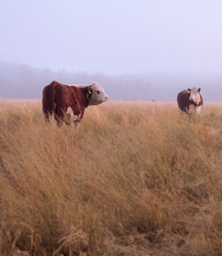
[[[1,0],[0,60],[107,74],[222,72],[222,1]]]

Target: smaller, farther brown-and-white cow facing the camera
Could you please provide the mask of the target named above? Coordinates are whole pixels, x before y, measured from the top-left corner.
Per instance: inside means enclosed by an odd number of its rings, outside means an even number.
[[[200,95],[200,88],[194,87],[181,91],[177,97],[179,110],[186,112],[188,115],[191,113],[200,113],[203,107],[203,99]]]

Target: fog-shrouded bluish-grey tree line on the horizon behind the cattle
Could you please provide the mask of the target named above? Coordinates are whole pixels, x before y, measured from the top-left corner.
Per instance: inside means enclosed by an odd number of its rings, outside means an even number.
[[[179,91],[194,86],[201,88],[205,101],[222,101],[222,74],[91,74],[85,71],[53,71],[24,64],[0,61],[0,98],[41,99],[44,86],[51,81],[65,85],[91,85],[99,83],[113,101],[138,99],[138,101],[173,101]]]

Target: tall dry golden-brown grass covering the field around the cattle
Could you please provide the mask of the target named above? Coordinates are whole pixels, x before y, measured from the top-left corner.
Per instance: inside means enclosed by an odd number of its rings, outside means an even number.
[[[107,102],[80,128],[0,101],[0,255],[221,255],[222,104]]]

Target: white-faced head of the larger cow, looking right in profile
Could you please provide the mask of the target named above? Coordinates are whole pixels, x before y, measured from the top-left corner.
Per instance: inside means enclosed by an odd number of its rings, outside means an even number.
[[[102,102],[109,101],[109,96],[105,94],[104,88],[96,82],[89,86],[89,105],[99,105]]]

